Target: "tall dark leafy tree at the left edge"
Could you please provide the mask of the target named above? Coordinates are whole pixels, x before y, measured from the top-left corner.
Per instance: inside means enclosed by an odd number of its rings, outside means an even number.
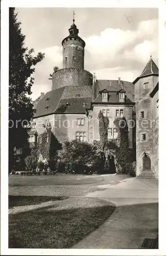
[[[21,32],[15,8],[9,8],[9,157],[13,148],[23,148],[27,143],[27,128],[24,125],[33,117],[30,95],[34,83],[35,66],[44,58],[34,49],[24,47],[25,35]]]

